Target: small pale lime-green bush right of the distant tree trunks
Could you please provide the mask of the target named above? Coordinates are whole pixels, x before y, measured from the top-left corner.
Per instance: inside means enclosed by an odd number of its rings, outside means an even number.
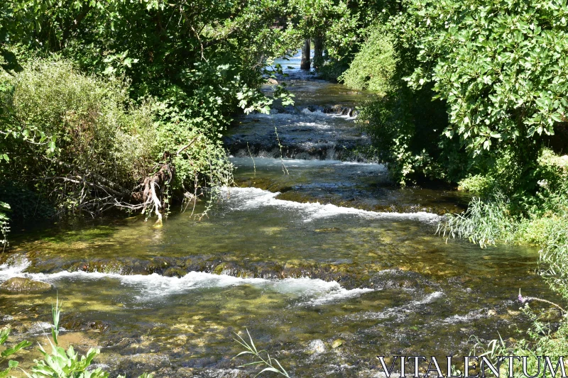
[[[363,47],[338,79],[347,87],[369,89],[379,94],[393,90],[392,79],[397,65],[393,37],[373,28]]]

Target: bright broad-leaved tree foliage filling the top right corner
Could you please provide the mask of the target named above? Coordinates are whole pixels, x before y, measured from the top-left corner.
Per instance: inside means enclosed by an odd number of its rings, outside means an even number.
[[[449,126],[474,156],[512,145],[519,157],[552,135],[568,106],[568,6],[564,1],[413,1],[428,33],[410,85],[434,83]],[[532,155],[534,156],[534,155]]]

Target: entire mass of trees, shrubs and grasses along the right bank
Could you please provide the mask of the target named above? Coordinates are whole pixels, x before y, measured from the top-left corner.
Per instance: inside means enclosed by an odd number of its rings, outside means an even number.
[[[377,92],[359,109],[376,155],[402,185],[436,179],[473,192],[439,233],[482,248],[540,246],[542,277],[568,301],[566,2],[373,5],[339,80]],[[525,310],[530,338],[486,352],[565,355],[566,314],[550,327]]]

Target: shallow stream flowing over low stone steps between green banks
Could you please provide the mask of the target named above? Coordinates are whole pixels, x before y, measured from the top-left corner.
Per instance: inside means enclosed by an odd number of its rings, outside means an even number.
[[[227,133],[237,187],[207,217],[26,233],[1,255],[0,282],[53,284],[62,342],[101,348],[97,361],[129,376],[248,376],[231,360],[247,329],[295,377],[373,377],[377,355],[443,359],[469,352],[472,335],[518,338],[518,289],[553,299],[537,250],[436,236],[440,214],[469,197],[394,187],[360,153],[353,109],[368,94],[288,72],[295,107]],[[45,343],[55,295],[0,292],[0,325]]]

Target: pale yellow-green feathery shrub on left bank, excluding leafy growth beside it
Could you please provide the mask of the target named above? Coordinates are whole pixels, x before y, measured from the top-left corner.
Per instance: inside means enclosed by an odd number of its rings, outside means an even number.
[[[19,132],[36,153],[109,179],[146,174],[156,153],[153,111],[129,101],[127,82],[81,74],[65,60],[34,60],[11,84],[6,136]]]

